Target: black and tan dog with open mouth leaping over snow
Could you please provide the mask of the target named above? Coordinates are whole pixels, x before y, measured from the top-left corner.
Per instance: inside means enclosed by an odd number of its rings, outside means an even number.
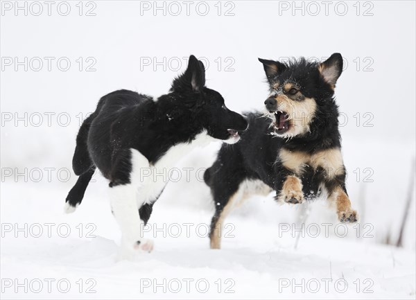
[[[333,90],[341,72],[339,53],[322,62],[301,58],[288,63],[261,60],[270,85],[267,114],[249,113],[241,141],[223,145],[204,175],[216,212],[211,248],[220,248],[226,215],[252,193],[291,204],[327,197],[340,222],[356,222],[345,189],[345,166]],[[266,118],[264,116],[267,116]]]

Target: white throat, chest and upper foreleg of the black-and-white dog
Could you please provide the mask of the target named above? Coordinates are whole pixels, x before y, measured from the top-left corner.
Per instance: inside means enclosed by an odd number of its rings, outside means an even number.
[[[191,143],[173,145],[156,164],[149,164],[148,159],[144,155],[132,148],[130,181],[133,186],[137,187],[137,202],[143,204],[157,200],[157,197],[159,197],[169,182],[169,177],[171,177],[177,161],[180,161],[193,148],[208,145],[213,140],[214,138],[209,136],[207,132],[201,132]]]

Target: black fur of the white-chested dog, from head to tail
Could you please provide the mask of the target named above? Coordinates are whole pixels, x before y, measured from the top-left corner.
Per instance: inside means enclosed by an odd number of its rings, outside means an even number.
[[[204,130],[226,140],[235,136],[233,130],[246,127],[245,117],[227,109],[223,97],[205,87],[205,67],[191,55],[187,70],[157,100],[124,89],[99,100],[78,132],[73,170],[80,177],[66,202],[80,204],[95,168],[110,187],[130,183],[130,149],[155,164],[173,145],[191,142]],[[153,204],[141,206],[141,219],[147,222],[152,209]]]

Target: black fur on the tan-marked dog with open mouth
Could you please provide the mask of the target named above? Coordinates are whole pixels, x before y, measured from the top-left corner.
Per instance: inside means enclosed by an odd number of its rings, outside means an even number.
[[[277,197],[279,196],[286,177],[293,175],[293,170],[285,168],[279,160],[279,152],[282,149],[313,154],[320,150],[340,148],[338,106],[333,98],[333,87],[343,68],[340,54],[332,55],[322,66],[304,58],[288,63],[259,60],[263,63],[270,92],[274,94],[277,85],[295,82],[300,88],[300,96],[293,101],[302,101],[304,98],[315,99],[317,104],[315,117],[310,123],[309,132],[287,139],[275,135],[275,128],[270,126],[272,120],[265,118],[264,114],[259,112],[245,114],[248,116],[249,127],[241,133],[241,141],[235,145],[224,144],[218,152],[216,161],[204,175],[206,184],[211,188],[216,208],[211,222],[211,235],[225,205],[245,179],[259,179],[276,191]],[[332,72],[325,73],[327,76],[325,78],[319,67],[333,69],[329,70]],[[277,101],[274,97],[268,98],[265,105],[268,111],[277,111]],[[338,170],[336,177],[330,180],[327,179],[326,172],[327,170],[322,168],[313,169],[311,166],[305,166],[300,179],[306,199],[319,195],[321,192],[319,186],[322,183],[329,193],[336,186],[340,186],[346,192],[345,168]]]

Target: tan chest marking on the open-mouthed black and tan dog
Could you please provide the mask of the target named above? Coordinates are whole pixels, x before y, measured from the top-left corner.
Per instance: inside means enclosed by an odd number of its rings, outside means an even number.
[[[318,167],[324,168],[324,170],[327,170],[329,178],[335,177],[344,170],[343,156],[339,148],[322,150],[313,155],[282,149],[279,152],[279,158],[285,168],[293,170],[297,175],[302,174],[306,164],[309,164],[314,169]]]

